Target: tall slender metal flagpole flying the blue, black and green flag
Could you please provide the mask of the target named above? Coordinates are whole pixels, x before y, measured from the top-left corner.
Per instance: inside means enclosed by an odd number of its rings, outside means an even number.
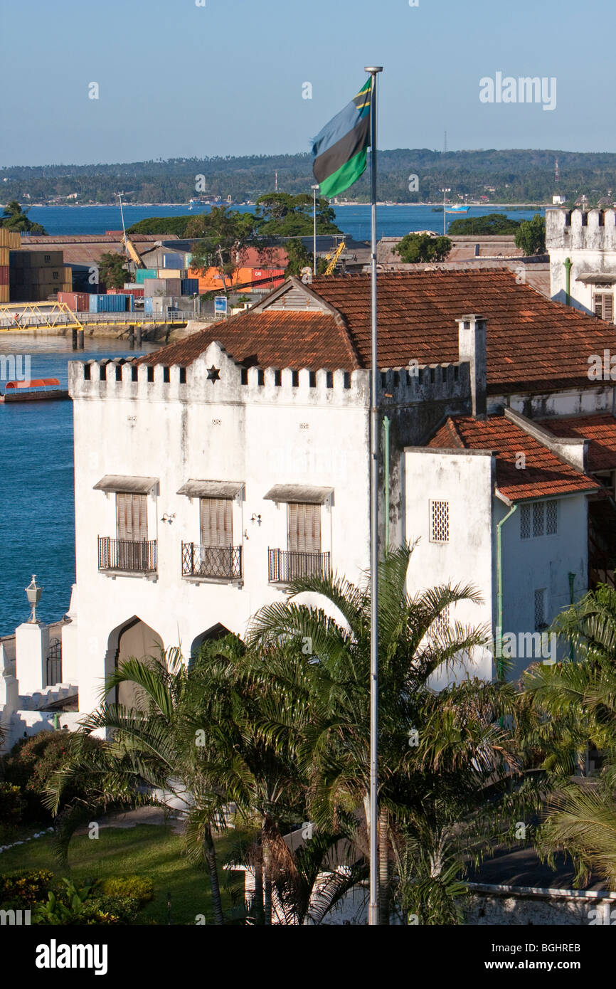
[[[377,361],[377,75],[382,65],[368,65],[372,76],[370,105],[370,177],[372,182],[370,366],[370,902],[368,923],[379,923],[379,410]]]

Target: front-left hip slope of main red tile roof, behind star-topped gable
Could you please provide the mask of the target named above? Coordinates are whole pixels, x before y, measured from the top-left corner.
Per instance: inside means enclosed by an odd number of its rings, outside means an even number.
[[[240,364],[262,368],[360,367],[348,333],[334,315],[325,313],[245,313],[140,357],[140,364],[191,364],[218,340]]]

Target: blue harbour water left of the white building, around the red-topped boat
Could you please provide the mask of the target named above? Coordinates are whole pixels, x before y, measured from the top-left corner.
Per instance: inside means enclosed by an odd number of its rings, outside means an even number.
[[[0,349],[5,355],[30,355],[33,378],[58,378],[64,388],[68,361],[77,356],[100,360],[144,352],[129,351],[125,341],[101,340],[90,341],[77,355],[63,337],[8,333],[0,333]],[[0,635],[9,635],[30,614],[24,588],[33,574],[44,587],[43,621],[61,618],[70,603],[75,581],[72,402],[0,405],[0,437]]]

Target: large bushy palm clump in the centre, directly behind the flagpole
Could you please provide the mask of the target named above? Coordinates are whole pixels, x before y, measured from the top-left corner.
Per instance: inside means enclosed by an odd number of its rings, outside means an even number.
[[[468,835],[474,828],[481,832],[477,807],[484,788],[494,780],[508,779],[517,767],[511,734],[498,724],[512,707],[511,687],[472,677],[440,692],[431,686],[431,677],[440,667],[459,666],[462,657],[484,644],[484,630],[460,623],[445,627],[441,619],[457,602],[477,602],[479,596],[471,586],[460,585],[408,595],[405,584],[411,552],[411,547],[404,546],[390,553],[379,575],[383,923],[389,922],[392,846],[398,886],[402,856],[405,860],[414,856],[415,877],[418,874],[421,863],[413,850],[419,848],[429,849],[433,880],[443,874],[446,850],[450,857],[454,855],[459,874],[465,863],[459,838],[461,815],[469,819]],[[322,608],[298,602],[304,592],[324,597],[340,617],[334,619]],[[309,657],[305,655],[307,644]],[[342,828],[365,851],[370,765],[369,584],[358,587],[336,577],[294,582],[286,602],[257,613],[248,645],[251,681],[260,684],[267,695],[285,699],[264,731],[272,741],[282,734],[297,753],[308,778],[313,820],[324,831]],[[299,721],[298,711],[302,712]],[[365,823],[358,826],[355,811],[361,806]],[[489,834],[484,831],[476,837],[476,854],[485,853],[494,833],[504,836],[506,828],[494,825]]]

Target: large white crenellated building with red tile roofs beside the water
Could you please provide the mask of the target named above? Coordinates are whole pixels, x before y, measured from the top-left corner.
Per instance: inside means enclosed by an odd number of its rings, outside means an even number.
[[[410,590],[479,588],[484,603],[451,620],[534,634],[587,586],[599,485],[584,416],[615,425],[614,387],[588,379],[587,354],[616,352],[616,331],[503,271],[384,274],[379,298],[382,540],[386,523],[393,545],[420,539]],[[242,636],[296,574],[362,579],[369,360],[369,279],[352,276],[290,279],[136,362],[70,365],[77,577],[62,663],[79,711],[123,658]],[[608,454],[616,470],[616,442]],[[498,523],[514,505],[499,598]],[[473,666],[490,676],[490,654]]]

